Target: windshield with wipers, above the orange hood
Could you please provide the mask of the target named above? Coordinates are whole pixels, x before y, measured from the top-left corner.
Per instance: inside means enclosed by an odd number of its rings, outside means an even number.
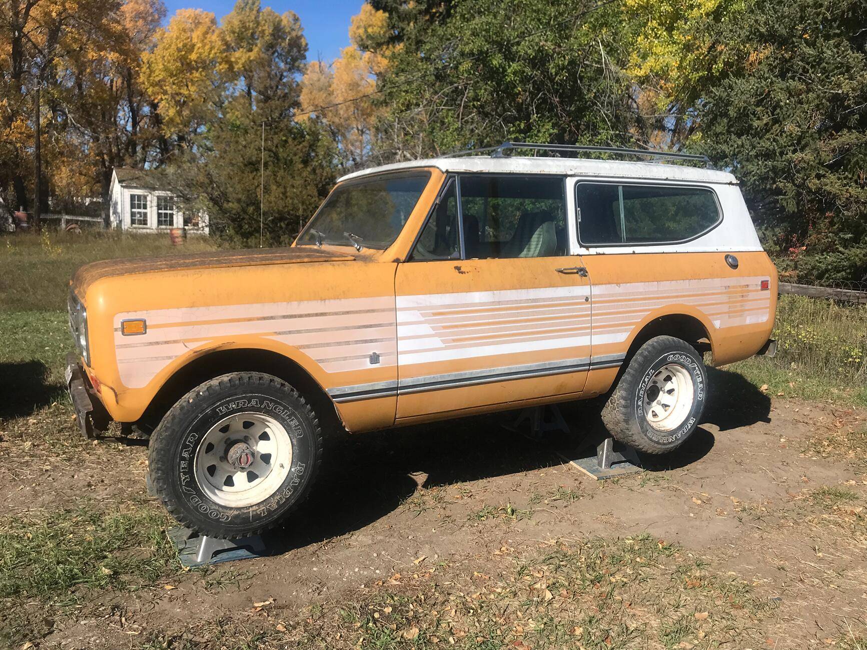
[[[428,179],[429,172],[416,172],[339,185],[297,244],[388,248],[407,223]]]

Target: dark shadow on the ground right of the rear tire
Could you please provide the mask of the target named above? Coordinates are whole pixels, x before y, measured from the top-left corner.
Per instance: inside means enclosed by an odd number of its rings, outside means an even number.
[[[720,431],[770,422],[771,398],[732,370],[707,368],[709,397],[702,423],[720,427]]]

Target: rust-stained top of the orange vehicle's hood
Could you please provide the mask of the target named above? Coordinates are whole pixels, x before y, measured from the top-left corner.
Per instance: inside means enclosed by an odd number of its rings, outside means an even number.
[[[208,250],[203,253],[167,257],[129,257],[85,264],[75,272],[71,285],[80,296],[91,284],[105,277],[132,276],[159,271],[217,269],[262,264],[311,262],[349,262],[355,257],[330,250],[303,248],[254,248],[244,250]]]

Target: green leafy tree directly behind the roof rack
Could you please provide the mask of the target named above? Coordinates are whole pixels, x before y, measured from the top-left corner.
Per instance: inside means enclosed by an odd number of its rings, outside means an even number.
[[[615,5],[467,0],[389,13],[402,48],[381,75],[396,159],[502,140],[641,142]]]

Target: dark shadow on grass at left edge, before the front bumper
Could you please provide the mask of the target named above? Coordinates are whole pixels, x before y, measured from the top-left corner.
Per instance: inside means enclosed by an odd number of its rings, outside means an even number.
[[[0,362],[0,419],[32,415],[61,398],[65,390],[49,374],[42,361]]]

